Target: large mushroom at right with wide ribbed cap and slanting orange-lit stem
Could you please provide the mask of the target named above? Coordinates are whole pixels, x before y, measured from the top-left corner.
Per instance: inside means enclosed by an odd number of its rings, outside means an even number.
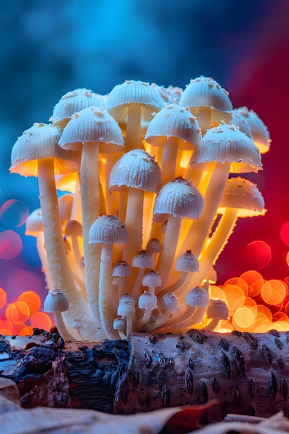
[[[192,250],[199,256],[202,245],[220,204],[229,173],[257,172],[262,168],[261,155],[252,139],[238,127],[222,123],[211,128],[200,140],[192,155],[191,164],[211,170],[204,193],[204,209],[200,219],[194,220],[181,250]]]

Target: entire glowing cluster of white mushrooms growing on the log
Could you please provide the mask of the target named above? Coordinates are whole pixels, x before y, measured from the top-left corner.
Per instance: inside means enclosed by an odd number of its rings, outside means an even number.
[[[63,338],[213,330],[229,310],[210,295],[212,268],[236,220],[265,213],[240,177],[270,148],[259,116],[201,76],[184,90],[76,89],[49,121],[17,139],[10,172],[39,180],[26,232]]]

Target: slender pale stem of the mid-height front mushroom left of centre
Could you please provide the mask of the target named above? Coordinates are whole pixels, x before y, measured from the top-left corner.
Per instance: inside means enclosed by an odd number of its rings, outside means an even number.
[[[100,248],[101,248],[101,244]],[[116,312],[112,308],[112,243],[103,243],[100,257],[99,313],[103,331],[108,339],[117,339],[113,329]]]

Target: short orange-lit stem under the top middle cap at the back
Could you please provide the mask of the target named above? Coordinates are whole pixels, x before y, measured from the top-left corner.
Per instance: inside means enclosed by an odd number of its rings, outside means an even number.
[[[140,148],[141,137],[141,105],[128,106],[128,123],[125,131],[125,152]]]

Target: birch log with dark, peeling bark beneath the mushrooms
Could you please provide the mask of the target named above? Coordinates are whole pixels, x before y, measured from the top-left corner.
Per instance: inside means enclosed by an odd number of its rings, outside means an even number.
[[[289,414],[289,332],[192,329],[65,343],[57,333],[35,333],[0,336],[0,376],[17,383],[24,408],[132,414],[218,399],[206,423],[228,413]]]

